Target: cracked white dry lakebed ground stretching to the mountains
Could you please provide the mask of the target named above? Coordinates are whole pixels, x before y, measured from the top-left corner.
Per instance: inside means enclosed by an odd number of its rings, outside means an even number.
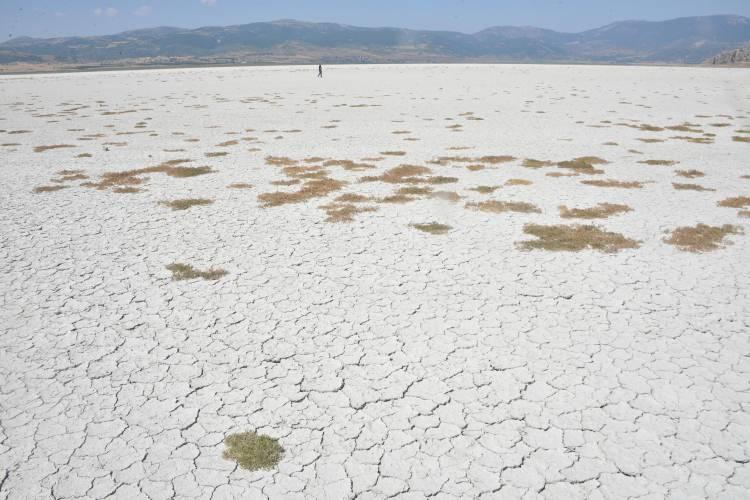
[[[748,71],[315,73],[0,77],[1,498],[750,496]]]

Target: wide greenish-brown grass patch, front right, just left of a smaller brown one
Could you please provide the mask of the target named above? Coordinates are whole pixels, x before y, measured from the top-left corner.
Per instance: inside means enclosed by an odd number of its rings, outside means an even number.
[[[519,246],[526,250],[549,250],[551,252],[580,252],[586,249],[614,253],[628,248],[638,248],[639,243],[618,233],[604,231],[596,226],[526,224],[524,233],[538,239],[522,241]]]

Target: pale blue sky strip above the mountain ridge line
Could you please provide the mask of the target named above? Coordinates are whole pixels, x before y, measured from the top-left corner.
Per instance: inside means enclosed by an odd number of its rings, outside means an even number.
[[[750,0],[0,0],[0,40],[274,19],[465,33],[498,25],[582,31],[626,19],[709,14],[750,17]]]

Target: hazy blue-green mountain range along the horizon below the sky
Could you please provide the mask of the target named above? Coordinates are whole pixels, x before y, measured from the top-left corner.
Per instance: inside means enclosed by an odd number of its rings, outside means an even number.
[[[0,64],[701,63],[747,43],[750,19],[731,15],[623,21],[581,33],[498,26],[465,34],[283,20],[109,36],[22,37],[0,44]]]

